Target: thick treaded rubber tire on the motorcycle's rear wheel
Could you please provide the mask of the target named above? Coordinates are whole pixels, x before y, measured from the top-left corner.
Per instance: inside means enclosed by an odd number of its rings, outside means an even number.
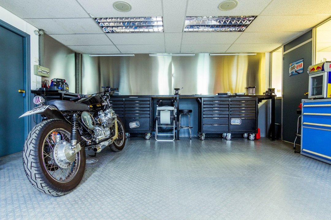
[[[55,167],[53,164],[51,168],[45,167],[43,146],[49,132],[58,128],[71,133],[71,125],[59,119],[49,119],[37,124],[28,134],[23,150],[23,165],[28,180],[37,190],[52,196],[62,196],[71,192],[81,181],[86,163],[85,149],[82,146],[77,153],[73,168],[75,175],[67,182],[61,181],[62,179],[57,181],[52,177],[49,171],[59,168],[56,168],[56,164],[54,164]],[[78,137],[78,141],[80,141],[80,137]]]

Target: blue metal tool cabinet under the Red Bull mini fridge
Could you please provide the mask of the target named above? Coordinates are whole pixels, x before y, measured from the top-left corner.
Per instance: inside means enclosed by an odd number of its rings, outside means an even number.
[[[301,154],[331,164],[331,100],[302,100]]]

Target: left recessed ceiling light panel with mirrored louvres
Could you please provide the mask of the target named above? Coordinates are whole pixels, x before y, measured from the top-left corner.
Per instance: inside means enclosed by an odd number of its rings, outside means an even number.
[[[98,17],[93,19],[105,33],[163,32],[162,17]]]

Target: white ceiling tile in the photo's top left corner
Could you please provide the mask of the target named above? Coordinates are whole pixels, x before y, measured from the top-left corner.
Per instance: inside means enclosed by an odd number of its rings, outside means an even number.
[[[11,0],[0,5],[21,18],[72,18],[89,17],[75,0]]]

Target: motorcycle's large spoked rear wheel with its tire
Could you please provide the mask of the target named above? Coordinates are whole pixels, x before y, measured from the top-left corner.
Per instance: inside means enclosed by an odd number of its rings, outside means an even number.
[[[57,158],[58,154],[54,153],[60,149],[60,143],[70,143],[70,131],[71,125],[65,121],[49,119],[37,124],[25,140],[23,150],[25,174],[31,184],[45,194],[65,195],[79,184],[84,175],[86,162],[84,147],[75,155],[74,160],[67,164],[61,164],[62,162]],[[78,141],[80,141],[79,136]],[[66,146],[69,146],[68,143]]]

